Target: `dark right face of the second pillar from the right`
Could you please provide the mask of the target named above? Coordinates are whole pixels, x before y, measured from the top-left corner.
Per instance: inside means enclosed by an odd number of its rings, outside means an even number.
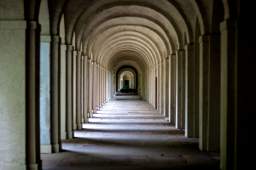
[[[209,115],[207,151],[219,151],[220,144],[220,35],[210,35]],[[211,121],[210,121],[211,120]]]

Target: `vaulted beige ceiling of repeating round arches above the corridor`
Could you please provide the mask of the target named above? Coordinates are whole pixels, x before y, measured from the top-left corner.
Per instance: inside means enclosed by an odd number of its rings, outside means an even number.
[[[194,42],[196,20],[209,33],[213,0],[53,0],[51,34],[112,71],[138,72]],[[63,17],[64,15],[64,17]],[[62,21],[61,21],[62,17]]]

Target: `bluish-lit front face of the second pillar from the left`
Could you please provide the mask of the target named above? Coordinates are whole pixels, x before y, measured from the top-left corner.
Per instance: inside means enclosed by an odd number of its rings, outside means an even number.
[[[49,49],[50,42],[40,43],[40,144],[50,144]]]

